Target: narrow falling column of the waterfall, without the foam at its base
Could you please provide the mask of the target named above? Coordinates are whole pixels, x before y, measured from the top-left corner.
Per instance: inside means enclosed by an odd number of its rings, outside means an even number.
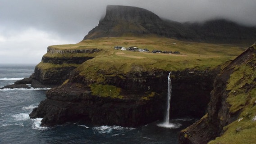
[[[165,114],[165,124],[169,124],[169,117],[170,117],[170,100],[172,96],[172,80],[170,78],[171,72],[168,75],[168,89],[167,89],[167,106],[166,106],[166,114]]]

